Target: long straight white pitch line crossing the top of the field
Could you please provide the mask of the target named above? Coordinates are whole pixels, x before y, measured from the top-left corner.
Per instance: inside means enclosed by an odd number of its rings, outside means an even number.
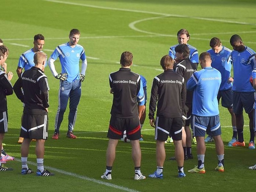
[[[186,15],[175,15],[175,14],[166,14],[166,13],[132,10],[132,9],[122,9],[122,8],[114,8],[114,7],[103,7],[103,6],[97,6],[97,5],[72,3],[72,2],[66,2],[66,1],[57,1],[57,0],[42,0],[42,1],[48,1],[48,2],[52,2],[52,3],[60,3],[60,4],[69,4],[69,5],[78,5],[78,6],[84,6],[84,7],[92,7],[92,8],[97,8],[97,9],[107,9],[107,10],[114,10],[114,11],[147,13],[147,14],[153,14],[153,15],[162,15],[165,17],[180,17],[180,18],[190,18],[190,19],[198,19],[198,20],[219,21],[219,22],[225,22],[225,23],[236,23],[236,24],[243,24],[243,25],[256,25],[255,23],[246,23],[246,22],[221,20],[221,19],[211,19],[211,18],[203,18],[203,17],[191,17],[191,16],[186,16]]]

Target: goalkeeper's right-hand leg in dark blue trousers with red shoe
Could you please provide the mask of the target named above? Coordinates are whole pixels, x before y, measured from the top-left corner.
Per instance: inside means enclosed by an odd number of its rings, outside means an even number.
[[[77,106],[81,97],[81,81],[79,79],[73,81],[73,86],[69,94],[69,114],[68,114],[68,133],[67,137],[75,139],[76,136],[72,133],[75,122]]]

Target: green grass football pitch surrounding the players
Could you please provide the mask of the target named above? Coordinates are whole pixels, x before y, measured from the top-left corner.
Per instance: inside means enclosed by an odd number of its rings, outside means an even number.
[[[0,38],[9,47],[8,71],[15,73],[21,53],[33,46],[33,36],[45,36],[43,51],[48,55],[57,45],[68,41],[70,29],[81,32],[79,44],[84,46],[88,67],[82,83],[82,96],[74,133],[76,140],[66,138],[68,108],[61,126],[60,139],[52,140],[58,107],[59,82],[49,68],[45,69],[50,86],[49,140],[46,142],[44,165],[54,177],[40,178],[35,174],[21,175],[20,132],[22,103],[15,95],[8,96],[9,130],[5,135],[5,150],[17,161],[6,165],[12,172],[1,172],[1,188],[14,191],[231,191],[252,190],[255,174],[248,169],[256,163],[255,150],[225,147],[225,172],[215,172],[217,156],[214,144],[207,144],[206,174],[187,173],[177,178],[177,164],[166,160],[164,179],[134,181],[131,145],[120,142],[112,180],[101,180],[105,171],[112,95],[108,75],[118,70],[123,51],[133,53],[132,70],[148,81],[148,102],[153,78],[161,73],[160,59],[177,43],[177,31],[188,29],[189,44],[198,52],[208,50],[213,36],[232,48],[229,39],[239,34],[244,44],[256,50],[256,4],[253,0],[8,0],[1,3]],[[59,60],[55,62],[60,71]],[[12,84],[17,80],[12,79]],[[148,108],[147,108],[148,114]],[[224,144],[231,139],[232,127],[228,110],[220,107]],[[248,117],[245,114],[244,136],[249,140]],[[154,130],[146,119],[141,142],[141,169],[148,175],[156,169]],[[196,146],[192,146],[196,157]],[[173,144],[166,144],[166,159],[173,156]],[[31,143],[28,160],[36,171],[35,142]],[[197,164],[197,158],[184,164],[187,172]]]

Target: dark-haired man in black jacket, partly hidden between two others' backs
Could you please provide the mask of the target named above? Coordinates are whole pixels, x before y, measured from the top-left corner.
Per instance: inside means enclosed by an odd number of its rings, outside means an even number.
[[[178,63],[174,69],[175,73],[181,75],[185,83],[192,74],[197,70],[197,64],[189,60],[189,48],[186,44],[179,44],[175,47],[175,61]],[[193,159],[192,155],[192,132],[190,130],[190,117],[192,112],[193,92],[187,90],[186,103],[182,108],[182,147],[185,159]],[[171,157],[175,160],[175,157]]]

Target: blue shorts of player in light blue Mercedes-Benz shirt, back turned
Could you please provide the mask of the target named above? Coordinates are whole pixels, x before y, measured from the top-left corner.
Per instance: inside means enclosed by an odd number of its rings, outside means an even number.
[[[212,136],[221,135],[220,116],[201,117],[191,115],[191,129],[196,137],[204,137],[205,132]]]

